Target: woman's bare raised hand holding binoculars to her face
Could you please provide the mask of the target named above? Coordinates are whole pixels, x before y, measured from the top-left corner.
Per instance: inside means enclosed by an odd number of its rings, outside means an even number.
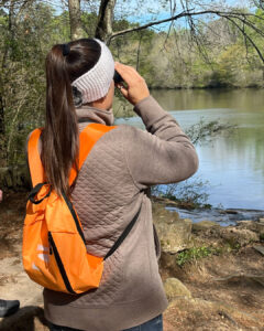
[[[114,67],[128,85],[125,87],[122,83],[119,83],[117,87],[132,105],[150,96],[145,79],[132,66],[116,62]]]

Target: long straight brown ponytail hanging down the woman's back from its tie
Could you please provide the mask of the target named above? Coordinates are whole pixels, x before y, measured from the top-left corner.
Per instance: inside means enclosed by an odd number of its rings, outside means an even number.
[[[63,45],[46,57],[46,122],[42,136],[42,161],[48,183],[62,195],[70,194],[69,171],[78,173],[79,136]]]

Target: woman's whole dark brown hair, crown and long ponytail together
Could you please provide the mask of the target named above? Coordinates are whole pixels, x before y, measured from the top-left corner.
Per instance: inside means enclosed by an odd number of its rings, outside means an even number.
[[[52,47],[46,57],[46,121],[42,135],[42,161],[46,180],[62,195],[70,194],[69,171],[78,173],[79,134],[72,83],[95,66],[100,45],[81,39]]]

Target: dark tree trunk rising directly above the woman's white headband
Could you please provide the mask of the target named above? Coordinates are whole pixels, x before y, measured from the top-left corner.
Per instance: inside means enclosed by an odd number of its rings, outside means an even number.
[[[96,38],[110,43],[112,35],[113,10],[117,0],[101,0],[98,23],[96,29]]]

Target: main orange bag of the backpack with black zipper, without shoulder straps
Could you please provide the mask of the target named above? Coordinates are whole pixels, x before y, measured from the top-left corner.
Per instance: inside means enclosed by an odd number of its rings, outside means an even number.
[[[45,212],[43,213],[43,210]],[[40,205],[28,203],[23,232],[23,265],[30,278],[55,291],[69,292],[64,284],[47,232],[59,250],[68,280],[76,293],[100,284],[103,259],[87,253],[73,216],[55,192]]]

